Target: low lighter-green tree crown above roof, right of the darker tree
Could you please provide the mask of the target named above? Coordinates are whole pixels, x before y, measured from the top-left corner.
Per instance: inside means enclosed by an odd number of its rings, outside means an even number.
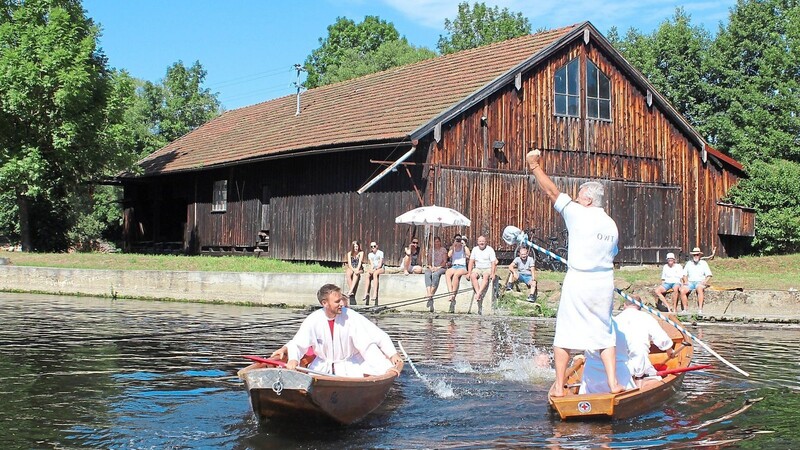
[[[336,83],[381,72],[392,67],[423,61],[436,56],[433,50],[414,47],[405,38],[386,41],[374,52],[362,55],[357,49],[347,49],[339,65],[331,67],[325,74],[325,82]]]

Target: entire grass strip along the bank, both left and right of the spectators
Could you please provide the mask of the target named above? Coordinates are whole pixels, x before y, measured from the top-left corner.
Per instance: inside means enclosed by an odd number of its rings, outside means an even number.
[[[336,267],[278,261],[252,256],[175,256],[127,253],[21,253],[2,252],[18,266],[110,270],[188,270],[205,272],[335,273]],[[782,256],[715,258],[709,261],[712,285],[744,289],[800,289],[800,253]],[[561,281],[560,272],[540,272],[542,280]],[[661,266],[627,266],[616,271],[629,282],[652,283],[661,277]]]

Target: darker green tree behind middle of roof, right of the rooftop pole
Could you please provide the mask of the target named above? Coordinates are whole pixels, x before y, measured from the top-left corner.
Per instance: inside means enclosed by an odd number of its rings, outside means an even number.
[[[397,41],[400,33],[391,22],[378,16],[366,16],[356,24],[345,17],[338,17],[328,26],[328,37],[320,38],[320,46],[306,58],[304,68],[308,74],[305,86],[309,89],[330,84],[328,75],[342,67],[345,58],[366,57],[383,43]]]

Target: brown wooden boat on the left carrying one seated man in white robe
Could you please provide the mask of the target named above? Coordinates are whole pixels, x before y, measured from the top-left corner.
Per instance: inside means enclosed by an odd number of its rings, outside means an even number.
[[[302,420],[349,425],[386,399],[397,374],[337,377],[255,363],[240,370],[260,422]]]

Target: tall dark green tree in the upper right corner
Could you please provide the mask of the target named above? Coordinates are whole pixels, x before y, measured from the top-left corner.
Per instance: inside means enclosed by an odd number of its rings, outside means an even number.
[[[798,2],[739,0],[709,51],[711,142],[744,162],[800,162]]]

